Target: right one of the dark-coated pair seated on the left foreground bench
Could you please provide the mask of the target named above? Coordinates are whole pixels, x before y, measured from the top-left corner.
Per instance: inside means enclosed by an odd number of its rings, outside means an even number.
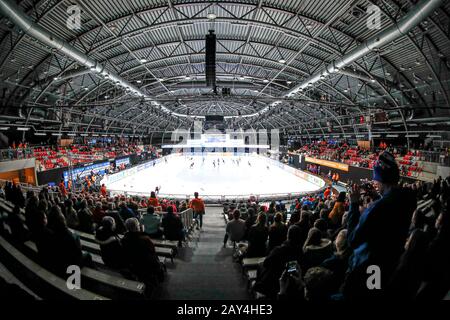
[[[122,239],[122,246],[126,261],[140,281],[154,287],[164,279],[155,246],[150,237],[140,230],[136,218],[126,220],[125,225],[128,231]]]

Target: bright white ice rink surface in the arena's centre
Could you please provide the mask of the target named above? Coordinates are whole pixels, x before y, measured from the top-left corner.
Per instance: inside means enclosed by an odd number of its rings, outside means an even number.
[[[156,186],[161,187],[160,196],[183,199],[195,191],[204,198],[220,199],[238,195],[248,198],[252,194],[284,194],[285,197],[289,193],[319,189],[261,156],[174,156],[169,157],[167,163],[163,160],[154,167],[107,184],[113,193],[126,191],[129,194],[149,194]]]

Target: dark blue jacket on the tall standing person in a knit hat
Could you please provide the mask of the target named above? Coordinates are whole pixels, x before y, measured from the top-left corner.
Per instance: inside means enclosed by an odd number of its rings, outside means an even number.
[[[392,189],[361,215],[358,205],[351,204],[347,229],[353,255],[349,260],[350,275],[344,294],[363,298],[368,293],[366,270],[370,265],[380,268],[381,287],[386,287],[404,251],[416,206],[415,193],[403,188]]]

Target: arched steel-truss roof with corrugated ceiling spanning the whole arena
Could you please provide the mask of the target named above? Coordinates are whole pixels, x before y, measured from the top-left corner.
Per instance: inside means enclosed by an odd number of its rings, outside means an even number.
[[[74,4],[80,28],[67,25],[68,1],[0,4],[2,119],[76,134],[167,132],[206,115],[308,137],[365,135],[367,123],[448,131],[448,1]],[[379,28],[367,24],[373,5]],[[209,30],[216,92],[205,84]]]

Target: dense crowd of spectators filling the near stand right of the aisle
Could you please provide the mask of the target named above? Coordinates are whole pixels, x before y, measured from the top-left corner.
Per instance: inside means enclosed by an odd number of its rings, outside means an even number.
[[[282,203],[227,204],[224,246],[238,243],[240,259],[266,257],[253,287],[257,296],[442,299],[450,288],[450,177],[399,183],[394,157],[383,153],[373,181],[349,191],[327,188],[298,199],[289,219]],[[418,209],[424,198],[429,207]],[[371,268],[380,270],[380,283],[374,280],[380,290],[367,287]]]

